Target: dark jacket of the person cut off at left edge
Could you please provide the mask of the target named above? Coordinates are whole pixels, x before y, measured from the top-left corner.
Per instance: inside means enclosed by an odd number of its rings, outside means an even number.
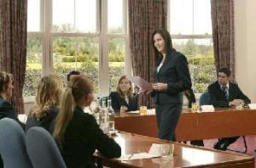
[[[25,124],[20,122],[17,115],[15,115],[15,110],[13,109],[12,105],[3,98],[0,98],[0,120],[4,117],[16,120],[20,126],[22,126],[22,128],[25,128]]]

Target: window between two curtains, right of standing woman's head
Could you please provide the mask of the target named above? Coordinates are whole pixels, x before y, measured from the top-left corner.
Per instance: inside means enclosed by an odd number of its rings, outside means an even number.
[[[183,5],[186,4],[186,5]],[[195,92],[204,92],[216,80],[213,58],[210,0],[170,0],[172,44],[189,61]]]

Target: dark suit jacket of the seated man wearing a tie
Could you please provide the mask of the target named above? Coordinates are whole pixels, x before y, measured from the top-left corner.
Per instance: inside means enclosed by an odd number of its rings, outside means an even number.
[[[244,95],[237,84],[230,82],[229,100],[225,99],[224,92],[221,90],[218,81],[215,81],[208,87],[208,92],[211,96],[211,101],[214,107],[229,107],[230,101],[234,99],[242,99],[245,104],[250,104],[251,100]]]

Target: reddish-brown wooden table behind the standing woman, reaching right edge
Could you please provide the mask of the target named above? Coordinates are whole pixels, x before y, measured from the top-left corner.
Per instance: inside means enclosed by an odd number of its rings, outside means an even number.
[[[115,128],[148,137],[157,137],[155,115],[121,114],[115,116]],[[183,109],[177,123],[177,141],[256,135],[256,109],[215,109],[192,113]]]

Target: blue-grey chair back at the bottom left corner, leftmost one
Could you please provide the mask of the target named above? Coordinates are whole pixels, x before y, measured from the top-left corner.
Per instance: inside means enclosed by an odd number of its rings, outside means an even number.
[[[0,120],[0,153],[4,168],[32,168],[26,153],[25,132],[13,119]]]

